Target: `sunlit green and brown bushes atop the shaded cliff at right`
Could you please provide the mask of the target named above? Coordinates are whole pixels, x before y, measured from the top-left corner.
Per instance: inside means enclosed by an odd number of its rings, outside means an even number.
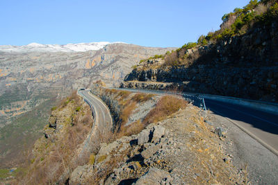
[[[251,0],[243,8],[235,8],[222,17],[222,24],[219,30],[211,31],[207,35],[201,35],[197,42],[188,42],[177,50],[167,51],[165,55],[155,55],[146,60],[140,60],[139,66],[142,69],[151,67],[146,62],[156,58],[165,60],[161,67],[188,67],[197,60],[202,53],[199,47],[216,44],[227,40],[230,37],[244,35],[254,26],[270,26],[272,21],[278,19],[278,3],[275,0]],[[134,66],[133,69],[136,69]],[[152,67],[156,67],[152,65]]]

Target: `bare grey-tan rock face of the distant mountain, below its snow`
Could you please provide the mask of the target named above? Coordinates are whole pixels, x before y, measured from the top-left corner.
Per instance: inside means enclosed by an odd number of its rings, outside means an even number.
[[[117,43],[75,53],[0,52],[0,116],[5,119],[0,127],[49,98],[67,95],[68,89],[99,79],[118,85],[139,60],[168,50]]]

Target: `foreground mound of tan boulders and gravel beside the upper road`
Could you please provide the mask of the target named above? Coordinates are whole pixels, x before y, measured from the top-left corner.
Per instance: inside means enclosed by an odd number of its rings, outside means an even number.
[[[222,138],[188,105],[132,136],[103,143],[91,166],[76,168],[70,184],[244,184]],[[230,159],[230,158],[229,158]]]

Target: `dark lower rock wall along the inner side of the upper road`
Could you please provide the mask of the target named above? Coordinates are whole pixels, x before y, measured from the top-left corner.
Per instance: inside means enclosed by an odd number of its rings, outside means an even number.
[[[169,71],[149,69],[133,71],[121,87],[140,89],[177,87],[189,92],[277,102],[278,74],[276,71],[278,67],[173,68]]]

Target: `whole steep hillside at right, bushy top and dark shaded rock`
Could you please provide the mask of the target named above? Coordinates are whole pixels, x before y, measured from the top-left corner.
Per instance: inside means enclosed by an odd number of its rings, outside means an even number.
[[[197,43],[142,60],[122,87],[178,86],[183,91],[278,102],[278,3],[250,1],[222,19],[220,30]]]

